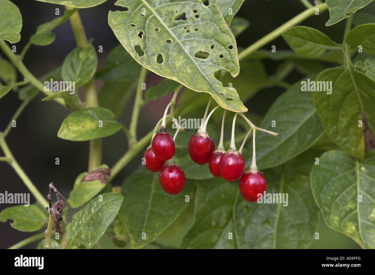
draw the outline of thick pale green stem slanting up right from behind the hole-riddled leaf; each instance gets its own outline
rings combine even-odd
[[[261,47],[263,47],[267,43],[274,40],[276,37],[280,36],[288,28],[293,27],[294,25],[299,24],[300,22],[302,22],[306,18],[310,17],[311,15],[314,15],[315,9],[319,9],[319,12],[323,12],[323,11],[328,9],[328,6],[327,6],[326,3],[319,4],[319,5],[316,5],[316,6],[312,6],[311,8],[306,9],[305,11],[301,12],[299,15],[294,16],[292,19],[285,22],[280,27],[276,28],[275,30],[273,30],[272,32],[270,32],[269,34],[267,34],[263,38],[259,39],[257,42],[250,45],[248,48],[246,48],[242,52],[240,52],[240,54],[238,55],[238,59],[242,60],[243,58],[245,58],[246,56],[248,56],[252,52],[257,51],[258,49],[260,49]]]

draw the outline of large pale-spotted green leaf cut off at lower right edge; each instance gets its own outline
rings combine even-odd
[[[363,248],[375,248],[375,150],[363,162],[332,150],[311,170],[314,199],[326,224]]]

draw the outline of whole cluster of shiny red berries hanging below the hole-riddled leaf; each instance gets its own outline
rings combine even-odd
[[[197,132],[189,140],[188,150],[190,158],[199,165],[208,163],[210,172],[215,177],[222,177],[227,181],[235,181],[241,175],[239,189],[244,199],[255,202],[258,194],[267,189],[267,182],[259,171],[245,171],[245,159],[236,149],[225,152],[223,148],[215,150],[212,138],[205,132]],[[145,166],[153,172],[160,171],[159,180],[165,192],[175,195],[185,186],[185,174],[181,167],[173,161],[164,166],[165,161],[174,156],[175,146],[171,135],[162,127],[147,148],[143,157]]]

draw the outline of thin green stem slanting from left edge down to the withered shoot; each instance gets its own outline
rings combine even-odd
[[[31,194],[36,198],[36,200],[43,206],[47,207],[48,202],[46,199],[40,194],[38,189],[34,186],[34,184],[31,182],[30,178],[27,177],[21,166],[18,164],[18,162],[15,160],[15,158],[12,155],[12,152],[10,152],[9,147],[7,146],[3,133],[0,132],[0,148],[3,150],[5,156],[7,158],[12,159],[12,162],[10,162],[10,166],[16,171],[18,176],[23,180],[24,184],[30,190]]]

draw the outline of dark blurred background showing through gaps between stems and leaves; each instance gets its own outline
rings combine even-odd
[[[12,0],[22,15],[23,26],[21,30],[21,41],[15,44],[17,54],[20,54],[30,36],[35,33],[38,25],[56,18],[55,8],[60,8],[60,16],[63,15],[64,6],[57,4],[42,3],[39,1]],[[108,11],[117,10],[114,6],[115,0],[108,0],[104,4],[96,7],[81,9],[80,15],[84,24],[88,39],[93,39],[94,48],[103,46],[103,53],[98,53],[98,68],[111,49],[118,45],[118,40],[108,25]],[[311,0],[312,3],[312,0]],[[247,18],[250,27],[237,38],[237,46],[247,47],[256,42],[279,25],[302,12],[305,6],[300,0],[246,0],[237,16]],[[366,6],[361,12],[374,13],[375,3]],[[341,43],[343,39],[345,20],[330,27],[324,24],[329,19],[329,12],[325,11],[319,16],[311,16],[301,23],[309,27],[317,28],[326,33],[335,42]],[[48,46],[32,45],[28,50],[24,64],[36,77],[40,77],[49,70],[62,64],[65,56],[76,47],[76,42],[69,21],[55,28],[55,41]],[[284,39],[281,37],[273,40],[263,47],[271,49],[276,45],[276,49],[289,49]],[[5,58],[1,52],[1,56]],[[270,75],[279,64],[277,61],[265,60],[267,73]],[[302,78],[302,75],[293,71],[287,81],[293,83]],[[18,74],[18,81],[22,81]],[[147,86],[155,85],[162,80],[161,77],[151,73],[147,77]],[[101,81],[97,81],[99,91],[102,86]],[[258,114],[265,114],[272,102],[283,92],[281,88],[264,89],[258,92],[251,99],[251,109],[249,103],[244,103],[249,110]],[[84,99],[82,92],[80,97]],[[154,127],[155,123],[162,116],[166,104],[168,104],[171,94],[158,100],[148,103],[143,109],[139,118],[138,136],[141,137]],[[26,107],[21,116],[17,119],[17,128],[12,128],[6,138],[8,146],[13,155],[24,169],[31,181],[37,186],[42,194],[47,195],[48,183],[53,182],[60,192],[68,198],[74,180],[78,174],[87,171],[88,164],[88,142],[73,142],[62,140],[57,137],[58,129],[62,120],[70,113],[53,101],[42,102],[44,97],[39,93],[33,101]],[[17,94],[9,92],[0,101],[0,131],[3,131],[13,113],[17,110],[21,101]],[[178,103],[177,103],[178,105]],[[124,125],[129,125],[130,114],[132,112],[132,101],[129,102],[119,121]],[[203,116],[202,110],[201,116]],[[199,117],[197,115],[197,117]],[[102,162],[112,166],[126,152],[127,141],[122,131],[103,139]],[[142,151],[143,152],[143,151]],[[3,154],[1,154],[3,155]],[[55,165],[55,158],[60,158],[60,165]],[[124,178],[129,175],[139,165],[141,154],[130,162],[113,181],[113,186],[121,185]],[[0,192],[5,190],[12,193],[26,193],[27,188],[22,180],[5,162],[0,162]],[[30,196],[31,203],[35,199]],[[0,211],[9,205],[0,205]],[[320,240],[313,241],[311,248],[359,248],[359,246],[349,237],[329,229],[323,219],[320,221]],[[0,223],[0,248],[7,248],[34,233],[18,232],[9,226],[9,221]],[[35,248],[36,244],[30,244],[26,248]]]

